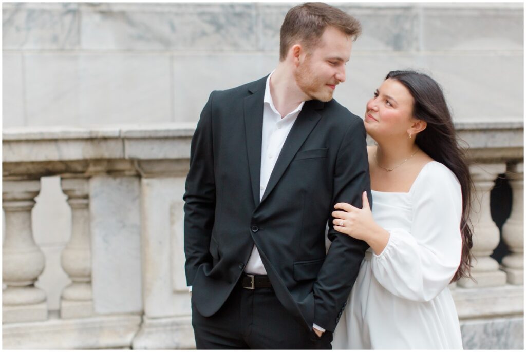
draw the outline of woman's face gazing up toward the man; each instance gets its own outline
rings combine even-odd
[[[367,102],[365,128],[369,136],[377,138],[409,138],[408,129],[413,118],[413,97],[395,79],[386,79]]]

